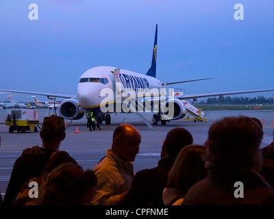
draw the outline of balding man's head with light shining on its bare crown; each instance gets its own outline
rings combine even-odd
[[[125,162],[133,162],[137,153],[141,136],[139,131],[132,125],[122,124],[114,130],[112,140],[112,153]]]

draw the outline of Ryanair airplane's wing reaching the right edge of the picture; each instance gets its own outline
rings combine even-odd
[[[232,92],[216,92],[216,93],[208,93],[208,94],[190,94],[190,95],[182,95],[178,96],[178,99],[197,99],[201,97],[209,97],[209,96],[225,96],[225,95],[234,95],[234,94],[249,94],[256,92],[269,92],[274,89],[264,89],[264,90],[242,90],[242,91],[232,91]]]

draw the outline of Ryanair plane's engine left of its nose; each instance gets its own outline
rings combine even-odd
[[[60,104],[59,114],[65,119],[81,119],[84,116],[84,110],[77,99],[66,99]]]

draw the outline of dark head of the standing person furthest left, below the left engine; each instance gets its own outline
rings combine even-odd
[[[60,142],[66,137],[64,119],[56,115],[45,117],[40,131],[40,137],[43,142],[43,147],[53,148],[54,145],[59,142],[59,148]]]

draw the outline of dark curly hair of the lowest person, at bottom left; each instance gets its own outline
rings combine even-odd
[[[64,163],[47,175],[39,188],[35,205],[86,205],[84,197],[97,185],[92,170],[84,171],[81,166]],[[91,201],[91,200],[90,200]]]

